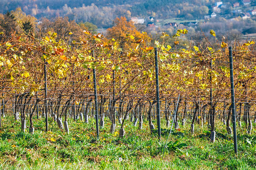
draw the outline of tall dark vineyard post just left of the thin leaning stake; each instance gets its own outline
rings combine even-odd
[[[160,127],[160,103],[159,103],[159,79],[158,79],[158,48],[155,48],[155,81],[156,81],[156,111],[158,122],[158,138],[161,139],[161,127]]]

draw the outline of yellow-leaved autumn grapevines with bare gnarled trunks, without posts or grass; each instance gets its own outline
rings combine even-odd
[[[79,41],[56,39],[54,32],[45,37],[19,35],[1,36],[0,94],[1,113],[24,121],[44,117],[47,113],[64,129],[69,117],[88,122],[94,116],[93,69],[96,69],[98,113],[100,125],[109,117],[110,131],[115,131],[115,120],[125,127],[130,117],[134,125],[148,121],[154,129],[155,119],[155,60],[158,48],[160,116],[167,127],[179,103],[175,122],[181,118],[191,124],[208,123],[214,131],[214,120],[220,119],[229,130],[231,97],[229,51],[225,41],[205,41],[205,44],[179,48],[178,30],[175,46],[150,41],[146,33],[140,37],[125,36],[125,43],[105,39],[102,34],[89,31]],[[214,31],[211,34],[215,36]],[[72,33],[69,33],[72,36]],[[69,37],[70,38],[70,37]],[[245,121],[249,133],[255,118],[256,56],[254,41],[233,43],[234,86],[237,119]],[[45,96],[44,66],[47,74]],[[212,91],[212,100],[210,92]],[[177,101],[177,96],[180,100]],[[243,113],[243,114],[242,114]],[[136,122],[135,122],[136,121]],[[67,126],[67,125],[65,125]],[[66,127],[65,127],[66,128]],[[175,128],[179,125],[176,123]],[[66,128],[67,130],[67,128]],[[193,128],[191,129],[193,132]]]

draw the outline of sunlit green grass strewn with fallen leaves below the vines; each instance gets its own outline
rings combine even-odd
[[[44,120],[35,120],[35,134],[20,131],[20,122],[3,118],[0,131],[0,169],[255,169],[255,128],[248,135],[238,128],[238,155],[234,154],[233,135],[221,122],[216,125],[216,142],[209,141],[206,125],[195,125],[195,134],[187,125],[174,130],[163,155],[169,130],[162,130],[159,142],[145,122],[138,130],[126,122],[125,137],[109,133],[110,123],[100,129],[95,140],[95,121],[89,124],[69,121],[70,134],[57,128],[50,118],[49,130]],[[162,124],[164,126],[164,124]],[[242,126],[245,125],[242,123]],[[254,124],[255,127],[255,124]],[[117,125],[118,131],[120,125]],[[28,129],[27,129],[28,130]]]

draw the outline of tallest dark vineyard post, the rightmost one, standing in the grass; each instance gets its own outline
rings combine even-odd
[[[232,46],[229,46],[229,69],[230,69],[230,89],[231,89],[231,105],[233,115],[233,134],[234,134],[234,152],[237,154],[237,129],[236,129],[236,109],[234,100],[234,78],[233,78],[233,56]]]

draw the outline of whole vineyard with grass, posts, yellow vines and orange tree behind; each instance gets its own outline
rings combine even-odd
[[[114,24],[0,32],[0,168],[255,169],[255,41]]]

